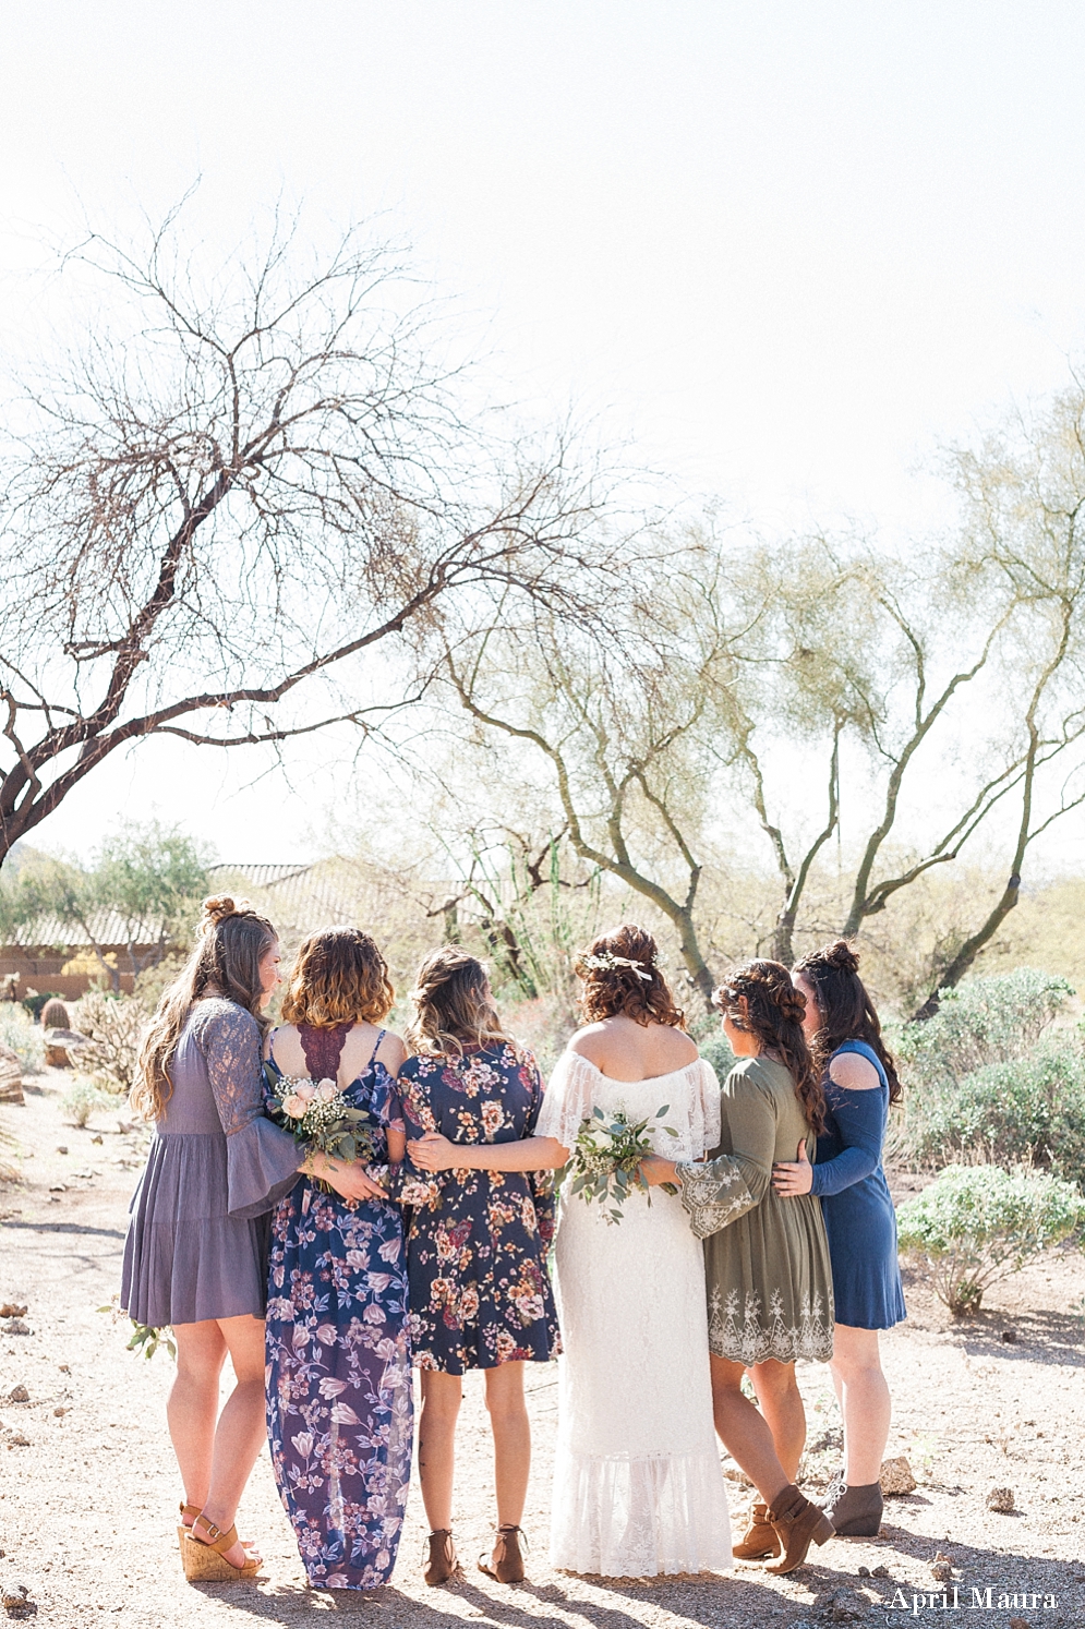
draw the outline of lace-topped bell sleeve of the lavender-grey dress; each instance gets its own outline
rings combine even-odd
[[[249,1220],[274,1210],[298,1179],[303,1150],[264,1114],[261,1031],[243,1007],[215,1007],[195,1043],[226,1135],[226,1209]]]

